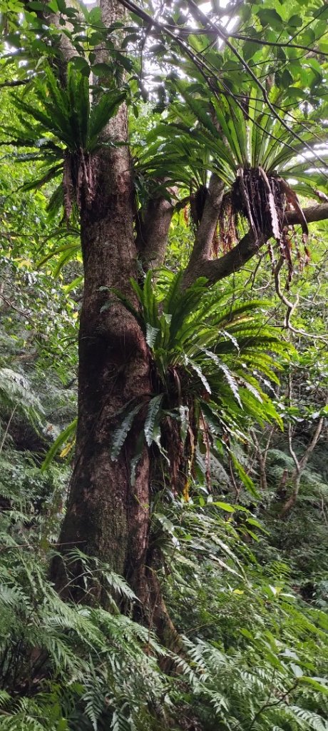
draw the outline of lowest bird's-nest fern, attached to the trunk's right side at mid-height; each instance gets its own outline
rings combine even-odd
[[[247,439],[250,417],[281,425],[260,381],[278,382],[274,354],[285,355],[288,348],[265,324],[263,302],[229,303],[218,287],[209,291],[205,279],[183,291],[181,278],[165,272],[155,292],[150,273],[143,289],[132,281],[141,314],[121,298],[140,322],[153,357],[157,393],[145,412],[145,441],[164,452],[176,488],[192,471],[198,441],[208,447],[229,436]],[[113,458],[140,409],[134,403],[123,414]]]

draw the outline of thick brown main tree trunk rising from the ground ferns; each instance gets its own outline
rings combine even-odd
[[[114,132],[117,138],[126,137],[124,105],[115,118]],[[94,159],[94,173],[96,197],[89,210],[84,205],[81,216],[85,292],[80,317],[77,448],[60,542],[63,552],[64,544],[67,550],[76,544],[88,555],[107,561],[143,599],[149,528],[146,447],[133,487],[130,480],[142,410],[118,461],[110,457],[112,434],[123,419],[122,410],[142,400],[146,405],[151,392],[145,339],[134,317],[110,292],[119,289],[133,300],[130,278],[136,276],[137,250],[128,149],[102,151]],[[85,598],[85,585],[83,577],[78,578],[78,562],[73,574],[75,580],[68,583],[62,561],[53,564],[53,578],[61,594],[80,600]]]

